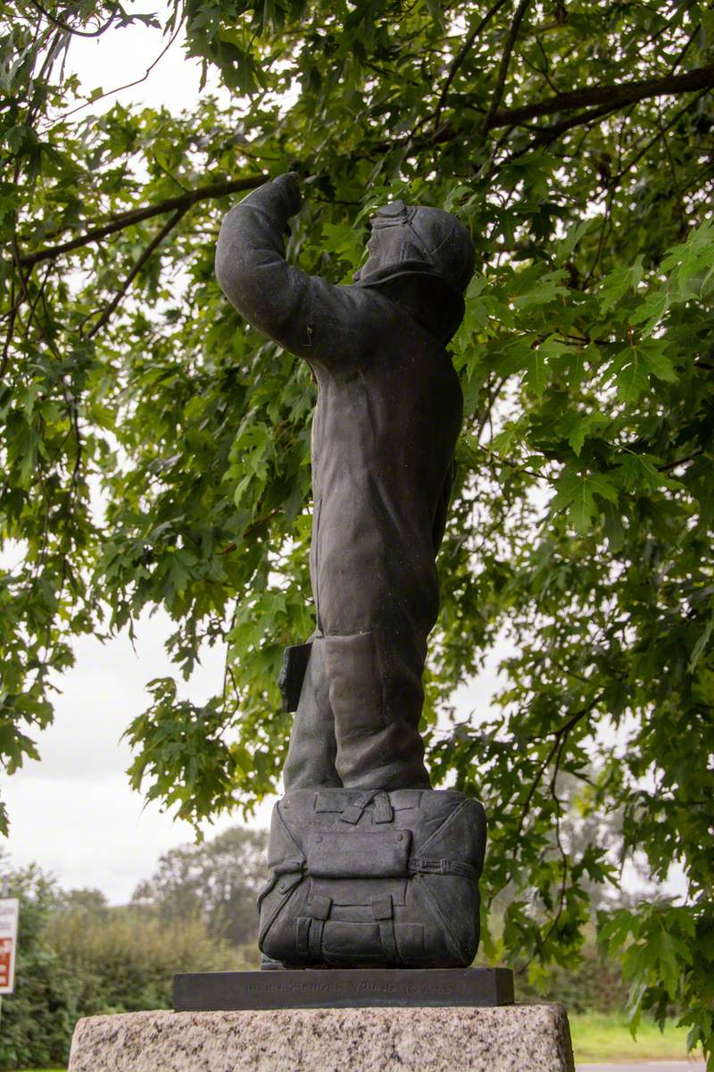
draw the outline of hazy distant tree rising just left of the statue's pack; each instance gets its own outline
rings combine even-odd
[[[212,936],[245,946],[257,937],[265,848],[264,833],[232,827],[200,845],[171,849],[152,878],[137,885],[132,904],[166,920],[200,918]]]

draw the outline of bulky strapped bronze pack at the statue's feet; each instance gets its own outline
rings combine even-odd
[[[451,790],[295,789],[273,809],[258,944],[287,967],[466,967],[482,805]]]

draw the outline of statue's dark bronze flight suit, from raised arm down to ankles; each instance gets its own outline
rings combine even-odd
[[[317,630],[285,785],[429,788],[422,673],[462,415],[445,351],[453,326],[439,327],[438,308],[406,312],[389,287],[335,286],[287,264],[284,235],[299,207],[291,177],[267,182],[228,213],[216,250],[232,304],[317,381]],[[422,283],[424,304],[438,307],[438,288]]]

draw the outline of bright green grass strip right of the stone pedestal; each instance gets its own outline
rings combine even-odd
[[[643,1019],[633,1039],[624,1014],[572,1013],[571,1033],[576,1061],[679,1059],[687,1055],[687,1028],[667,1025],[664,1032]]]

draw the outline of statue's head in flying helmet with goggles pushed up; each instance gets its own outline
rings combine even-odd
[[[454,322],[456,330],[475,264],[473,242],[464,224],[442,209],[401,200],[379,208],[370,223],[369,256],[354,282],[378,287],[406,276],[439,281],[436,289],[442,315]]]

